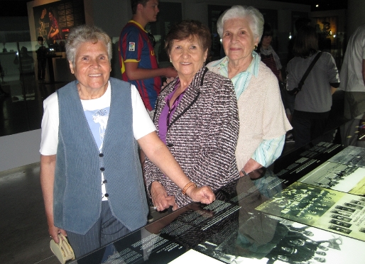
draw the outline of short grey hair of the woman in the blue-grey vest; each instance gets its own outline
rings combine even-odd
[[[72,28],[66,41],[67,60],[70,60],[75,67],[75,55],[80,45],[85,42],[97,43],[98,41],[101,41],[105,45],[105,48],[107,48],[109,62],[111,62],[113,53],[111,51],[111,39],[109,35],[101,28],[90,25],[81,25]]]

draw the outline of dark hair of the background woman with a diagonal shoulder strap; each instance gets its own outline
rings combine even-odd
[[[318,50],[318,35],[312,26],[303,26],[295,38],[293,54],[296,57],[309,57]]]

